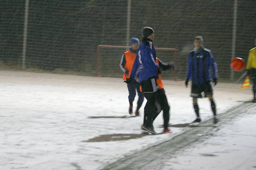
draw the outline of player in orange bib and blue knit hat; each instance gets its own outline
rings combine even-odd
[[[139,48],[139,44],[140,44],[139,39],[132,38],[131,42],[130,42],[131,48],[128,51],[124,52],[122,55],[119,67],[124,72],[124,76],[123,76],[124,80],[128,80],[130,78],[130,74],[132,71],[132,65],[136,58],[136,51]],[[124,82],[127,83],[127,81],[124,81]],[[127,83],[127,88],[128,88],[128,92],[129,92],[128,100],[129,100],[129,104],[130,104],[129,114],[132,115],[133,101],[136,96],[136,89],[137,89],[139,99],[137,102],[137,109],[135,111],[135,116],[140,116],[139,109],[144,100],[144,96],[143,96],[142,92],[140,91],[140,84],[137,83],[136,81],[132,81],[132,82]]]

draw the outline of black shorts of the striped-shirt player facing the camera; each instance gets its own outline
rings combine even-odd
[[[191,86],[191,97],[193,98],[202,98],[202,92],[204,92],[204,97],[206,95],[212,94],[213,93],[213,88],[212,88],[212,82],[207,81],[204,84],[193,84]]]

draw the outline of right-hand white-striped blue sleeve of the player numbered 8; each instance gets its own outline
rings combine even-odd
[[[152,42],[149,42],[149,46],[145,48],[145,56],[148,58],[147,62],[149,67],[158,69],[158,64],[156,63],[156,52]]]

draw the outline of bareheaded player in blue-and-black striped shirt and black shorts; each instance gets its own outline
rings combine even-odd
[[[203,37],[197,36],[194,39],[195,49],[189,53],[188,57],[188,72],[187,79],[185,81],[186,87],[188,87],[188,81],[191,80],[191,97],[193,97],[193,106],[196,112],[196,119],[193,121],[201,122],[199,115],[199,107],[197,104],[197,98],[202,98],[202,92],[204,96],[208,97],[211,102],[213,112],[213,123],[217,123],[216,118],[216,106],[213,100],[213,86],[210,67],[213,72],[213,83],[216,85],[218,82],[218,68],[217,63],[214,61],[211,50],[203,46]]]

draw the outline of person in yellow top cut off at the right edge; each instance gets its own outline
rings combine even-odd
[[[256,39],[254,42],[254,45],[256,46]],[[250,79],[252,80],[252,93],[253,93],[253,103],[256,103],[256,47],[252,48],[249,51],[249,56],[247,59],[247,64],[246,64],[246,70],[247,74],[250,76]]]

